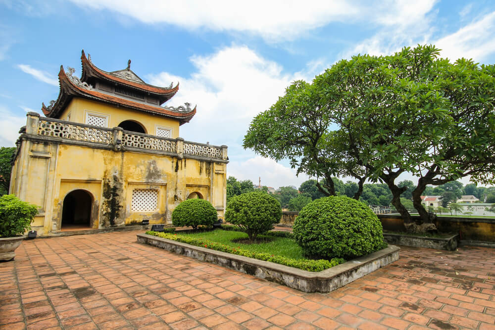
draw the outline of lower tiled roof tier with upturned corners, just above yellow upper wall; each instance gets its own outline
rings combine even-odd
[[[65,109],[68,105],[68,101],[72,99],[73,96],[80,96],[88,99],[93,99],[96,101],[108,103],[111,105],[116,105],[119,107],[128,108],[131,110],[138,110],[143,112],[148,112],[153,115],[159,115],[167,118],[172,118],[179,120],[180,124],[187,123],[196,114],[196,106],[193,110],[189,112],[174,112],[167,110],[162,107],[156,107],[148,104],[143,104],[135,102],[132,100],[124,99],[118,96],[103,94],[94,90],[87,90],[75,85],[65,74],[63,67],[60,66],[60,72],[58,73],[58,81],[60,82],[60,93],[58,95],[57,101],[48,109],[45,104],[42,106],[43,113],[50,118],[55,118],[60,114],[60,112]]]

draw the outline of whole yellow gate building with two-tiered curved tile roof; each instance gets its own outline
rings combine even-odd
[[[46,117],[27,114],[16,142],[10,193],[40,207],[33,229],[171,223],[187,198],[223,217],[227,146],[184,141],[179,128],[196,107],[161,106],[179,84],[146,84],[130,69],[106,72],[81,55],[82,76],[60,67],[60,93]]]

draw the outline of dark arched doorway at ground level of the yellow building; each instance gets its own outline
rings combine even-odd
[[[91,227],[91,194],[82,189],[69,192],[63,199],[61,229]]]

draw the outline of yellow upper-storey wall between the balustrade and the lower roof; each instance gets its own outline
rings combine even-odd
[[[145,128],[146,134],[156,135],[156,126],[161,126],[172,129],[173,139],[179,137],[179,121],[177,120],[163,118],[141,111],[117,108],[79,97],[74,97],[57,119],[67,120],[67,115],[70,113],[71,122],[86,124],[87,111],[109,116],[108,128],[117,127],[125,120],[133,120],[139,122]]]

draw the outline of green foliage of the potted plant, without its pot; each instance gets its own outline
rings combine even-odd
[[[14,194],[0,197],[0,237],[23,235],[31,229],[38,206],[20,200]]]

